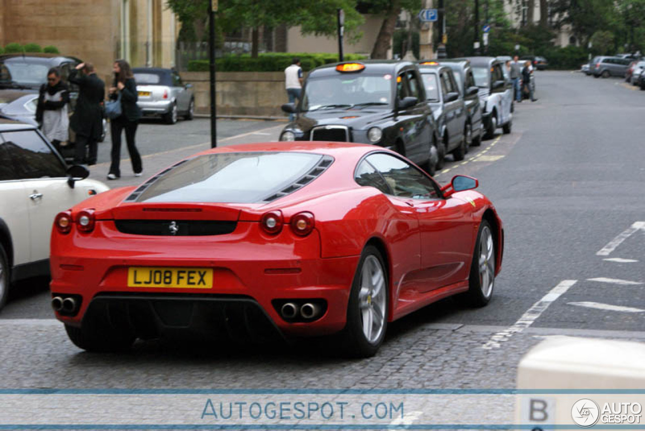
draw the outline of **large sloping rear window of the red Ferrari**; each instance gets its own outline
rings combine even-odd
[[[290,152],[201,155],[161,175],[137,202],[261,203],[304,177],[323,157]]]

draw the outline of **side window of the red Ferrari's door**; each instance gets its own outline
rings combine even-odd
[[[389,154],[377,153],[366,158],[381,173],[394,196],[412,199],[439,198],[437,186],[412,165]]]

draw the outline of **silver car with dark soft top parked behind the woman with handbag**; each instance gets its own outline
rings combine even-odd
[[[179,115],[192,120],[195,114],[193,84],[184,84],[173,69],[133,68],[143,115],[161,116],[168,124],[175,124]]]

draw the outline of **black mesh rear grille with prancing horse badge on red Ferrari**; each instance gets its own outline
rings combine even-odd
[[[233,233],[237,222],[213,220],[115,220],[121,233],[157,236],[206,236]]]

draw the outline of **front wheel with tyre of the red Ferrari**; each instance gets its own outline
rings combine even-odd
[[[486,220],[482,220],[477,233],[473,260],[470,264],[468,292],[462,296],[473,307],[484,307],[493,296],[495,286],[495,241],[493,231]]]

